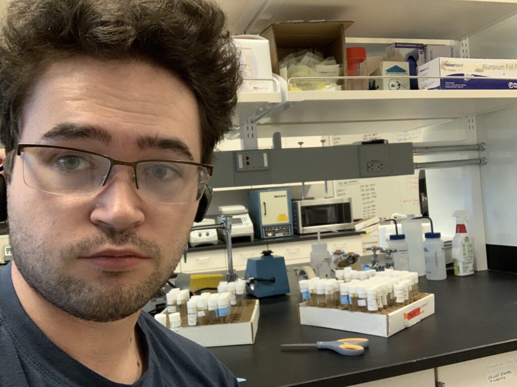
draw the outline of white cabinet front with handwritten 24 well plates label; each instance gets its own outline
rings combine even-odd
[[[436,381],[445,387],[514,387],[517,351],[436,368]]]

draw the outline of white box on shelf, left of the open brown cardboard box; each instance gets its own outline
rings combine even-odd
[[[267,39],[256,35],[237,35],[233,37],[233,40],[240,49],[242,68],[244,68],[243,76],[248,78],[244,80],[240,91],[275,91]],[[261,78],[261,80],[249,78]]]

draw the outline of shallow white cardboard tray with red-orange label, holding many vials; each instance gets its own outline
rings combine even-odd
[[[308,307],[298,304],[301,325],[339,329],[375,336],[389,337],[417,324],[434,313],[434,294],[423,293],[422,298],[409,305],[390,312],[379,313],[348,312],[339,309]]]

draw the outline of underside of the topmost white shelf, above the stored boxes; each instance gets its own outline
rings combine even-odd
[[[233,13],[240,7],[240,14],[254,5],[219,2]],[[458,40],[515,12],[515,0],[283,0],[259,9],[246,32],[259,34],[269,24],[285,20],[350,20],[354,24],[346,30],[347,37]],[[237,18],[230,27],[235,33],[242,24]]]

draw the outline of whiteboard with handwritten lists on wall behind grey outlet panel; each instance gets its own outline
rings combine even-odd
[[[343,134],[330,136],[330,145],[345,145],[355,141],[386,139],[394,142],[421,142],[422,130],[400,133]],[[422,156],[415,156],[415,162]],[[393,213],[420,214],[418,199],[418,173],[334,181],[334,196],[352,198],[352,214],[355,219],[378,216],[387,218]]]

